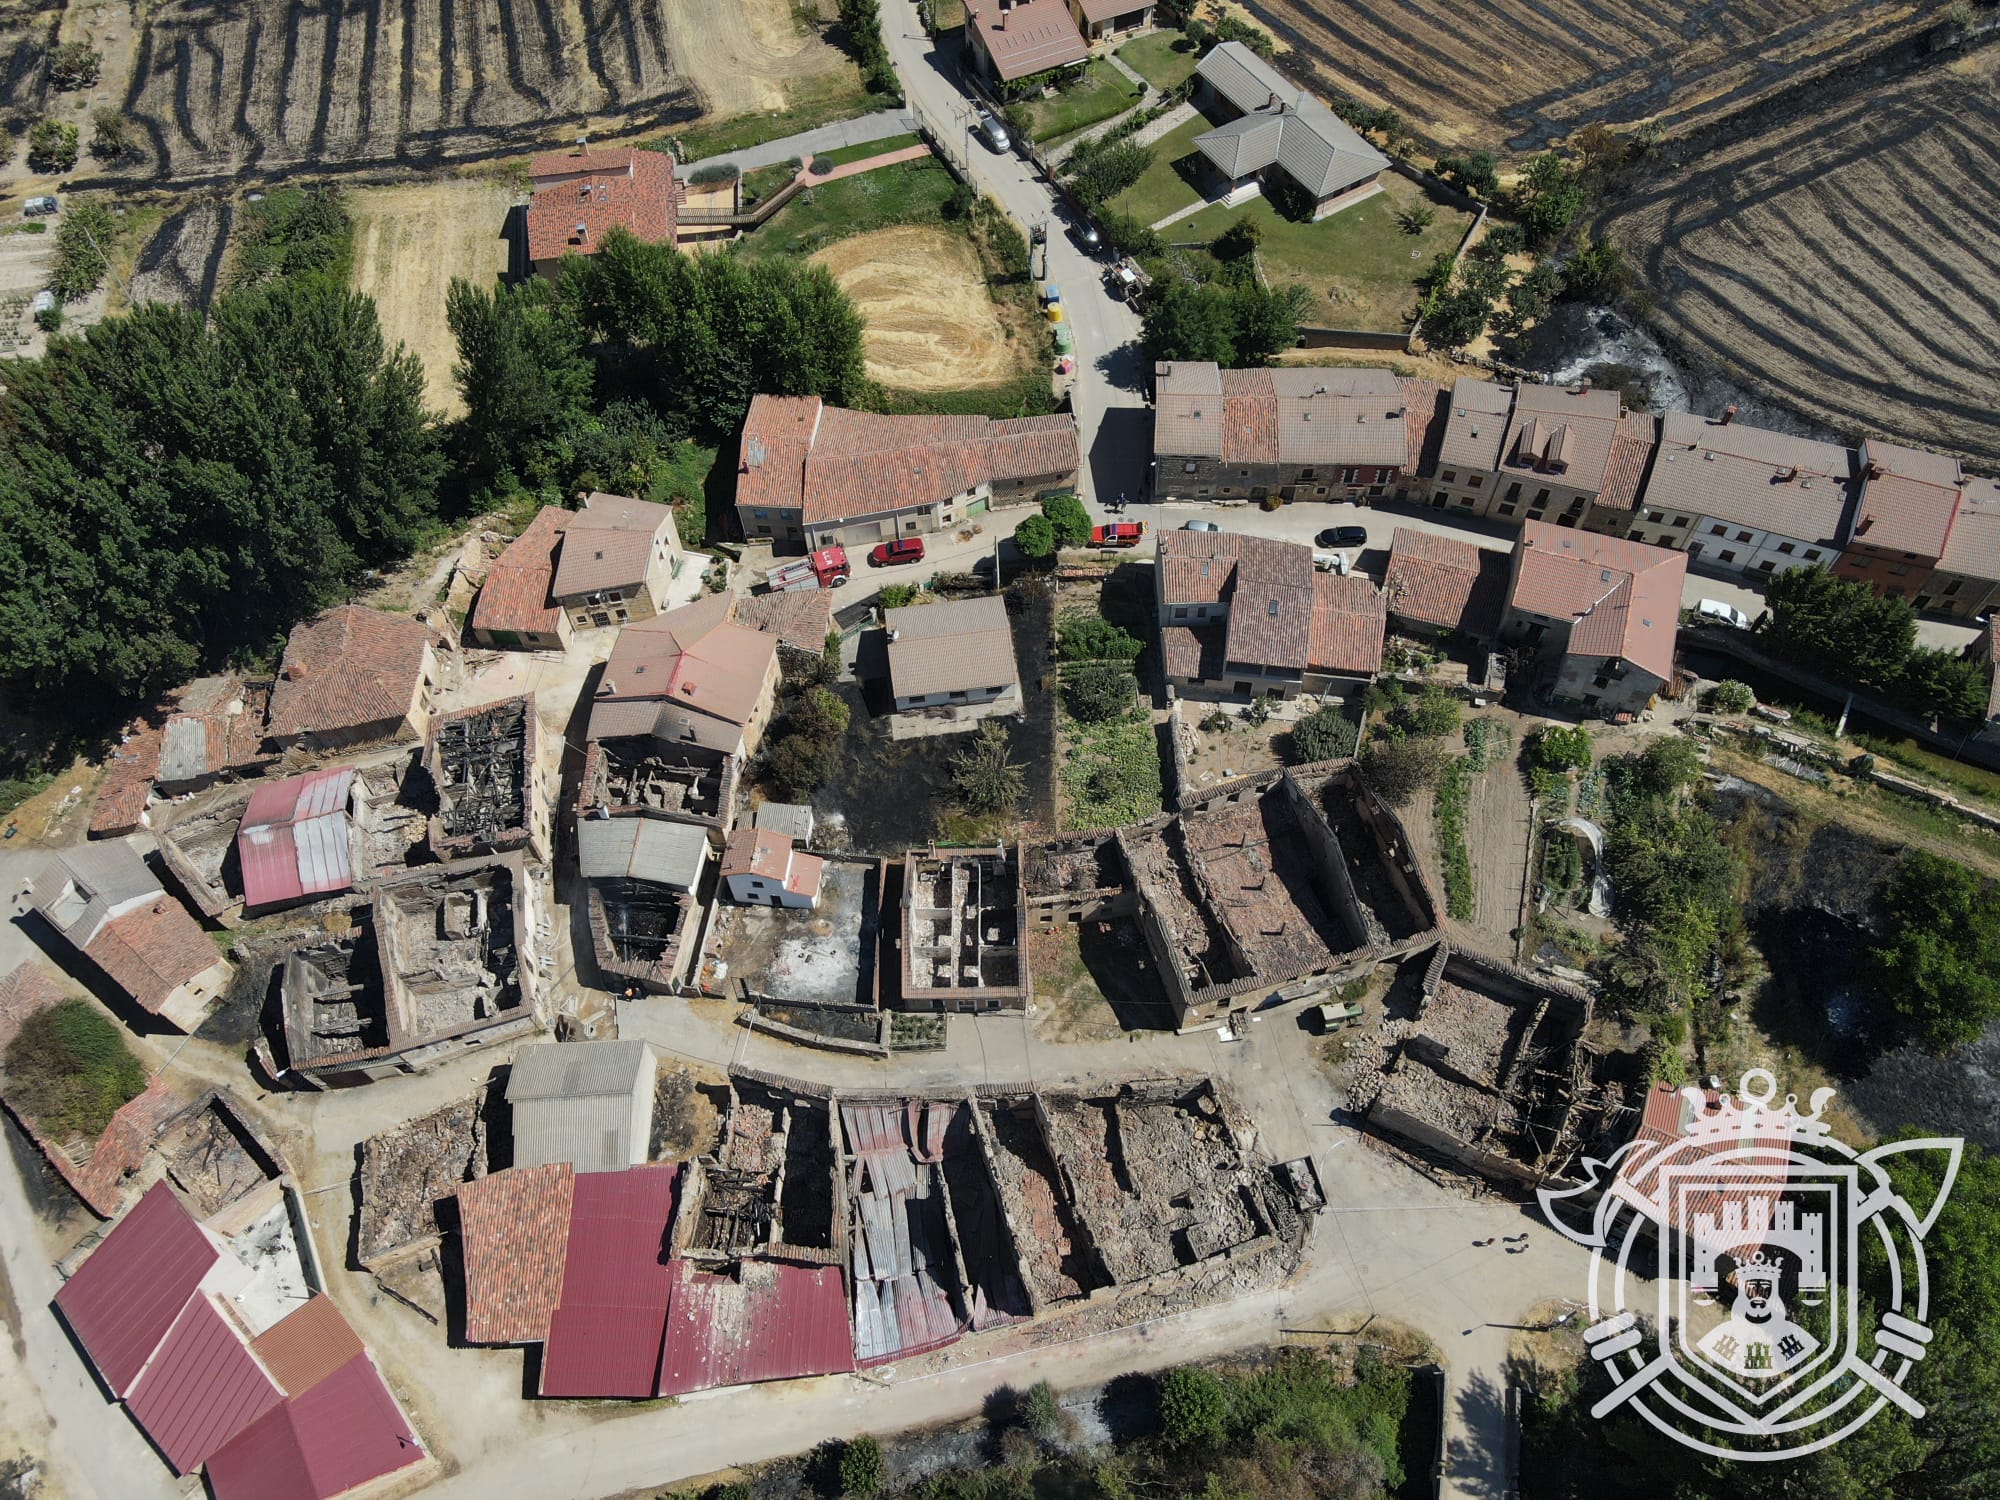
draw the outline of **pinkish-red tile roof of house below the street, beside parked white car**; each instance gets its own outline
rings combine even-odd
[[[1686,576],[1682,552],[1530,520],[1510,604],[1570,620],[1572,656],[1618,656],[1668,682]]]

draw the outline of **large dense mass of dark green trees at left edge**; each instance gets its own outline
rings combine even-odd
[[[76,714],[268,650],[434,524],[424,374],[322,274],[58,338],[0,396],[0,676]]]

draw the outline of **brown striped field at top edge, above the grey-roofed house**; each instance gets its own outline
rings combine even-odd
[[[1300,84],[1424,136],[1538,150],[1594,120],[1680,130],[1928,24],[1916,0],[1250,0]]]

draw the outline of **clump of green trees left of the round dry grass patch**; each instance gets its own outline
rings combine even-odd
[[[560,498],[586,472],[652,472],[722,438],[750,398],[866,390],[862,320],[824,266],[688,256],[612,230],[560,280],[454,280],[446,316],[476,484]]]

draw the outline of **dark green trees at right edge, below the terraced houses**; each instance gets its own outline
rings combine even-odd
[[[1976,722],[1986,714],[1978,662],[1916,644],[1916,608],[1826,568],[1794,568],[1764,588],[1764,644],[1788,662],[1878,688],[1916,714]]]

